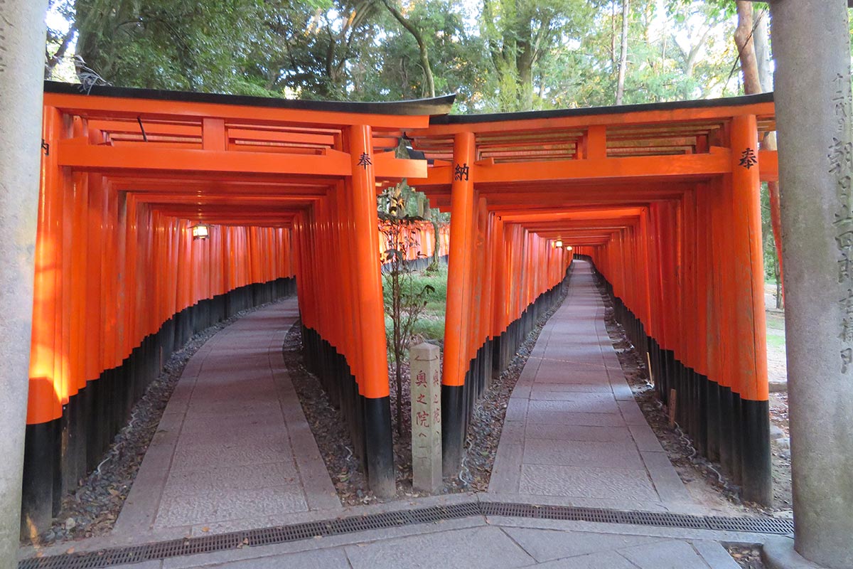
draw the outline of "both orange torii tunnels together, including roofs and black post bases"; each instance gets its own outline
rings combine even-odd
[[[769,502],[769,96],[452,116],[452,96],[45,91],[26,526],[44,526],[96,467],[194,331],[295,290],[306,363],[371,486],[392,494],[376,195],[403,178],[451,213],[445,473],[458,472],[479,394],[583,255],[699,452]],[[401,137],[408,160],[395,157]],[[195,241],[200,223],[211,236]]]

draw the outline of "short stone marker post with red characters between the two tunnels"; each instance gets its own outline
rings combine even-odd
[[[412,485],[431,494],[441,488],[441,364],[438,346],[409,350],[412,397]]]

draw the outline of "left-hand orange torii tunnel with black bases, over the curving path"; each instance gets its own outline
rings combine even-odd
[[[453,97],[287,102],[46,84],[24,530],[100,462],[195,330],[299,288],[308,363],[394,491],[377,189]],[[205,241],[190,228],[212,224]],[[294,282],[295,280],[295,282]]]

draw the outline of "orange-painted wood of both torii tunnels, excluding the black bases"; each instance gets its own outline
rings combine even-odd
[[[28,421],[55,419],[183,308],[281,276],[358,391],[385,397],[375,195],[403,177],[452,213],[445,385],[577,253],[662,348],[764,400],[756,196],[778,158],[757,137],[773,129],[768,102],[430,125],[49,93]],[[403,134],[427,160],[393,157]],[[202,222],[212,236],[193,241]],[[430,224],[418,242],[432,254]]]

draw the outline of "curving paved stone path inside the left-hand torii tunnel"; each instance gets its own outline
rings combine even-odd
[[[286,299],[243,316],[189,360],[114,536],[229,531],[341,508],[284,369]]]

